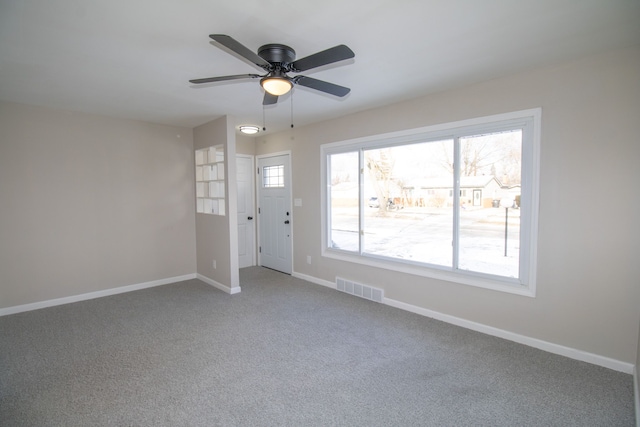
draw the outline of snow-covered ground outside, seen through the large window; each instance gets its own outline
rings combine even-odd
[[[520,210],[509,209],[505,256],[505,209],[467,208],[460,212],[461,270],[518,277]],[[365,208],[364,252],[451,267],[451,208]],[[358,251],[357,208],[332,210],[333,246]]]

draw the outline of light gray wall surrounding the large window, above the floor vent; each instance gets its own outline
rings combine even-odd
[[[292,152],[294,271],[384,288],[443,314],[635,364],[640,317],[640,49],[606,54],[257,139]],[[323,258],[320,145],[542,107],[537,296]],[[311,265],[306,256],[311,255]]]

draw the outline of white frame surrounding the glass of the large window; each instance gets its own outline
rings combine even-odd
[[[540,181],[540,132],[542,109],[534,108],[492,116],[478,117],[452,123],[443,123],[418,129],[373,135],[347,141],[323,144],[320,147],[321,159],[321,244],[322,256],[341,261],[384,268],[392,271],[430,277],[449,282],[477,286],[518,295],[535,297],[537,271],[537,237],[538,207]],[[521,195],[521,237],[520,237],[520,277],[492,276],[470,271],[453,270],[446,267],[426,266],[424,264],[407,263],[371,254],[354,253],[331,248],[329,233],[331,226],[329,164],[332,154],[353,152],[361,149],[403,145],[412,142],[434,141],[441,138],[456,137],[464,133],[473,134],[474,129],[480,131],[487,126],[523,126],[522,140],[522,195]],[[364,215],[363,183],[360,183],[360,218]],[[362,224],[362,223],[361,223]]]

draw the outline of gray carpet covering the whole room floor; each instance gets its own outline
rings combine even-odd
[[[2,426],[633,426],[631,375],[271,270],[0,318]]]

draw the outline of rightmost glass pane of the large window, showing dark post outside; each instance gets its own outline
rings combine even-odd
[[[460,269],[518,277],[521,153],[521,130],[460,138]]]

